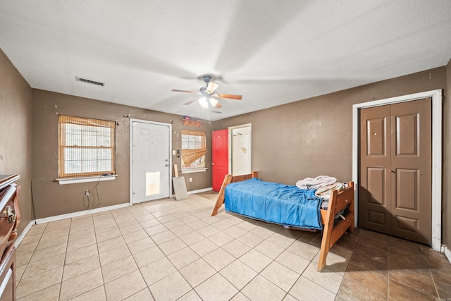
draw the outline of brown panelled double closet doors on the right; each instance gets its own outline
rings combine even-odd
[[[360,227],[431,245],[431,144],[431,99],[360,111]]]

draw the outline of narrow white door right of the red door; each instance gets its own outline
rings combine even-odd
[[[233,176],[252,173],[252,126],[229,128],[229,171]]]

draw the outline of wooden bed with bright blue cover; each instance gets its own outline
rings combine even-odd
[[[323,238],[318,262],[318,271],[322,271],[326,266],[326,257],[330,247],[347,230],[354,231],[354,183],[348,183],[345,190],[330,192],[328,209],[326,210],[321,209],[321,202],[318,203],[317,199],[311,197],[310,192],[306,193],[302,201],[298,201],[296,200],[298,192],[295,190],[299,190],[299,188],[296,186],[278,184],[281,186],[275,185],[276,191],[270,191],[270,188],[266,187],[268,182],[257,181],[257,179],[257,171],[242,176],[226,175],[211,216],[218,214],[218,209],[226,202],[226,211],[235,212],[252,219],[307,230],[320,230],[322,228]],[[242,181],[244,182],[238,183]],[[230,183],[237,184],[230,185]],[[249,189],[246,188],[248,183]],[[254,186],[255,184],[257,186]],[[229,188],[227,188],[228,185],[230,185]],[[237,188],[245,193],[235,192]],[[285,188],[288,190],[285,191]],[[288,198],[280,200],[281,194],[285,192],[287,192]],[[304,192],[299,193],[303,194]],[[271,197],[271,202],[268,202],[268,197]],[[293,202],[300,203],[302,208],[297,207],[298,205],[293,204]],[[265,207],[265,212],[260,212],[257,209],[258,207]],[[342,210],[344,209],[345,212],[343,213]],[[335,216],[340,214],[342,218],[335,219]]]

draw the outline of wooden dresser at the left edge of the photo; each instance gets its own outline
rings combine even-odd
[[[0,301],[16,300],[17,226],[20,221],[18,175],[0,175]]]

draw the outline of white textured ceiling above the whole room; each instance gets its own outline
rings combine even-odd
[[[218,120],[444,66],[451,1],[0,1],[0,48],[33,88]],[[242,101],[171,92],[206,73]]]

